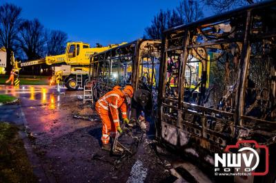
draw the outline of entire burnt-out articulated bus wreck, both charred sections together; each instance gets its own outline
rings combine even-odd
[[[265,176],[228,180],[272,182],[275,60],[276,2],[268,1],[171,28],[162,41],[139,39],[94,54],[90,81],[95,100],[115,85],[132,85],[130,118],[143,111],[155,125],[159,147],[183,155],[211,177],[215,153],[237,153],[229,145],[268,147],[269,152],[257,150],[260,166],[254,170]]]

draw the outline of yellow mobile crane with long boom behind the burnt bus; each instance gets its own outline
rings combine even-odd
[[[52,75],[51,83],[63,84],[70,90],[83,87],[88,82],[90,56],[95,53],[103,52],[112,47],[117,47],[121,44],[112,44],[103,47],[97,44],[97,47],[90,47],[88,43],[83,42],[69,42],[66,46],[65,54],[56,56],[46,56],[37,61],[28,61],[21,63],[21,67],[29,65],[38,65],[46,63],[47,65],[66,63],[66,65],[56,66],[55,72]]]

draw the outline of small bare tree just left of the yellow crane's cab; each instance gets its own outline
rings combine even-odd
[[[46,31],[46,54],[63,54],[66,49],[68,35],[60,30]]]

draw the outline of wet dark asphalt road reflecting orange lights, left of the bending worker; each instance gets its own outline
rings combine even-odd
[[[50,86],[0,86],[0,94],[20,98],[21,103],[0,106],[0,121],[24,126],[29,134],[32,152],[45,177],[41,182],[164,182],[170,177],[170,164],[161,160],[146,139],[137,153],[110,171],[117,157],[100,148],[101,122],[92,104],[83,105],[77,95]],[[82,120],[75,115],[95,119]],[[95,158],[100,157],[100,158]],[[38,164],[39,163],[39,164]],[[167,165],[167,166],[166,166]],[[139,171],[137,171],[139,170]],[[165,181],[166,182],[166,181]]]

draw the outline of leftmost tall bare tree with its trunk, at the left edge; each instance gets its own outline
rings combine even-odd
[[[18,26],[20,24],[21,8],[11,3],[0,6],[0,46],[7,50],[7,71],[10,72],[10,54],[17,40]]]

